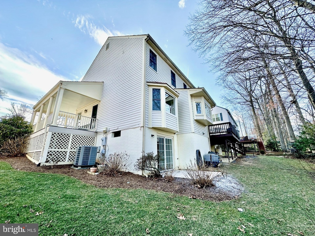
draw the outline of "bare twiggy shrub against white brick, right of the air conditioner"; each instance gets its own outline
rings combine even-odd
[[[97,170],[103,172],[106,175],[117,175],[125,170],[128,170],[131,161],[129,155],[126,152],[115,152],[108,156],[101,156],[99,158],[99,165]]]

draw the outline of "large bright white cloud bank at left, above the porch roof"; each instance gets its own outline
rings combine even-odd
[[[0,101],[0,115],[8,113],[11,102],[35,104],[58,81],[68,80],[42,65],[33,55],[0,43],[0,88],[8,98]]]

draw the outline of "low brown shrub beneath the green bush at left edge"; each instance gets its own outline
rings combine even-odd
[[[2,156],[24,156],[26,152],[26,141],[24,137],[14,137],[7,139],[0,146],[0,154]]]

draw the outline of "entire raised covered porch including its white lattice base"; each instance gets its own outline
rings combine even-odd
[[[103,82],[59,81],[33,107],[26,156],[39,166],[72,164],[78,145],[94,146],[102,89]]]

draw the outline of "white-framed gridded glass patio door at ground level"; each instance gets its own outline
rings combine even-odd
[[[173,169],[173,140],[157,137],[157,167],[160,171]]]

